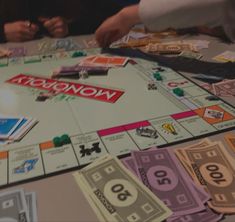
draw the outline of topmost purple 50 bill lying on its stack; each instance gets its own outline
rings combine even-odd
[[[203,210],[204,204],[192,186],[192,181],[168,149],[134,151],[138,176],[173,211],[173,216]],[[169,195],[174,193],[174,195]]]

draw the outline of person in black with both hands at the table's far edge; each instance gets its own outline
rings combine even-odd
[[[121,8],[110,0],[0,0],[0,42],[91,34]]]

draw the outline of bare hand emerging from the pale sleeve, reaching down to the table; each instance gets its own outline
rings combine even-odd
[[[126,7],[98,27],[96,41],[101,47],[107,47],[126,35],[139,21],[138,5]]]

